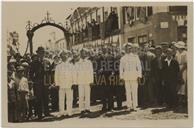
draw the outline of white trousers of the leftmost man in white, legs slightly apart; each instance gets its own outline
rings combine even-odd
[[[65,113],[65,96],[66,96],[66,111],[68,115],[72,115],[73,107],[73,91],[71,88],[59,88],[59,112]]]

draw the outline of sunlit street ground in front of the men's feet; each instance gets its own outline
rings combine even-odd
[[[125,103],[124,103],[125,104]],[[174,112],[165,107],[148,107],[139,108],[137,111],[129,111],[127,109],[113,110],[111,112],[101,112],[101,105],[91,107],[91,113],[81,117],[78,108],[74,108],[72,117],[57,118],[57,112],[52,113],[52,117],[44,118],[43,122],[47,121],[63,121],[66,119],[116,119],[116,120],[166,120],[166,119],[187,119],[186,112]]]

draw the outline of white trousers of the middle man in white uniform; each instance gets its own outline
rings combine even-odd
[[[90,86],[79,85],[79,109],[90,110]]]

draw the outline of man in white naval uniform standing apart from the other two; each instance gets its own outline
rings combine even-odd
[[[120,79],[125,82],[127,107],[136,110],[138,106],[138,80],[142,77],[142,67],[138,55],[134,54],[133,44],[125,45],[126,54],[120,60]]]

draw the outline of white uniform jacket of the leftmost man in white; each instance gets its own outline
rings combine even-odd
[[[72,87],[72,65],[68,61],[61,62],[56,66],[55,84],[60,88]]]

